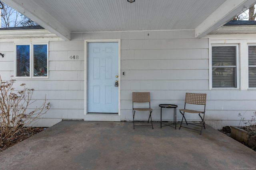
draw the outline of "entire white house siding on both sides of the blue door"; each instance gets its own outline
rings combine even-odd
[[[148,35],[149,34],[149,35]],[[206,122],[214,127],[238,124],[255,110],[256,90],[209,90],[208,39],[192,38],[193,31],[137,31],[73,33],[73,41],[49,42],[49,78],[17,80],[34,88],[40,104],[46,98],[52,108],[37,125],[53,125],[62,119],[84,119],[84,39],[121,39],[121,120],[132,120],[132,92],[150,92],[152,119],[160,120],[159,104],[176,104],[177,120],[186,92],[206,93]],[[14,70],[14,42],[0,42],[0,75],[8,80]],[[69,57],[78,55],[79,59]],[[33,106],[34,107],[34,106]],[[163,119],[172,120],[172,110]],[[171,113],[171,115],[170,115]],[[138,116],[148,119],[148,116]],[[188,117],[198,121],[198,117]]]

